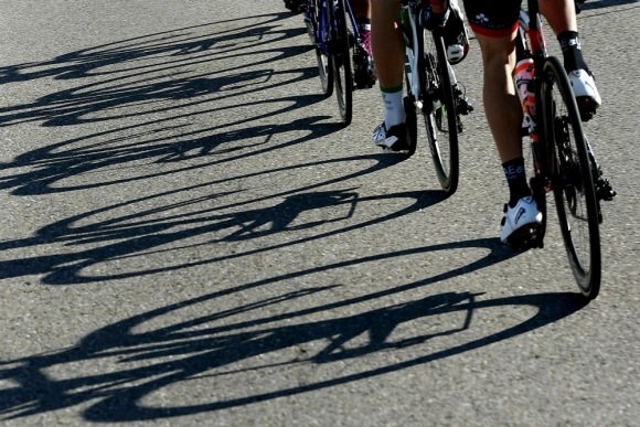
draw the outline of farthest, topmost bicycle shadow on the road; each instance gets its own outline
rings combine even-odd
[[[233,53],[234,51],[245,50],[247,46],[268,47],[270,42],[290,39],[306,33],[303,28],[281,28],[278,22],[287,18],[289,17],[286,13],[249,14],[241,19],[172,29],[154,34],[97,45],[70,52],[49,61],[0,66],[0,84],[32,82],[46,77],[54,77],[56,79],[77,79],[95,76],[108,77],[120,73],[117,68],[109,68],[110,66],[127,63],[131,63],[132,67],[126,68],[126,71],[143,73],[145,71],[153,70],[158,64],[138,65],[137,63],[141,60],[158,55],[169,57],[164,62],[161,62],[160,65],[169,66],[167,70],[171,70],[172,66],[182,65],[181,60],[186,60],[190,54],[207,52],[212,47],[216,47],[217,54]],[[276,38],[266,40],[266,36],[269,34],[275,34]],[[291,50],[281,51],[282,54],[296,54],[300,50],[308,49],[303,46],[290,47]],[[214,55],[212,54],[193,58],[193,61],[195,63],[206,63],[213,57]],[[60,96],[51,95],[51,99],[56,98],[60,98]],[[11,109],[1,110],[7,111]]]

